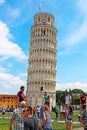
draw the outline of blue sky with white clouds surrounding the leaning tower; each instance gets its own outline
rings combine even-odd
[[[38,12],[55,17],[56,90],[87,91],[87,0],[0,0],[0,93],[26,87],[30,29]]]

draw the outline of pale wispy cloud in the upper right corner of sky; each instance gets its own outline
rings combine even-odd
[[[76,21],[76,23],[78,23],[78,27],[74,28],[74,32],[69,33],[71,35],[69,35],[65,40],[65,43],[67,43],[67,45],[78,44],[84,38],[87,38],[87,0],[79,0],[78,9],[80,12],[82,12],[83,21],[82,24],[79,24],[79,22]]]

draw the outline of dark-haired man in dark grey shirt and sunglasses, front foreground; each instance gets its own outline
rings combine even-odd
[[[32,107],[26,106],[23,110],[24,120],[24,130],[38,130],[38,121],[36,118],[32,117]]]

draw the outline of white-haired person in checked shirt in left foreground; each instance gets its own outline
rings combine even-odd
[[[24,130],[24,120],[23,120],[22,112],[25,106],[26,106],[26,102],[22,101],[19,104],[19,108],[14,109],[12,117],[10,119],[9,130],[12,130],[13,121],[14,121],[14,130]]]

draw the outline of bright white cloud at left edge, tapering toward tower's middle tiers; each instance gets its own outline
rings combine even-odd
[[[9,28],[5,23],[0,21],[0,56],[14,57],[19,60],[27,59],[22,49],[17,43],[13,43],[10,39],[12,35],[10,34]]]

